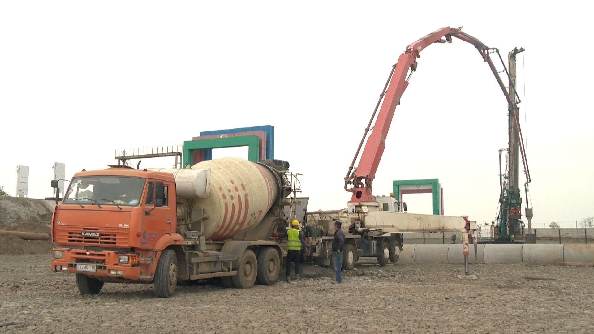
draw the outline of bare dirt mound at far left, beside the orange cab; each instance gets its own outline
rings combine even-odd
[[[52,206],[46,200],[0,197],[0,230],[50,234],[51,221]],[[50,241],[0,236],[0,254],[45,254],[52,247]]]

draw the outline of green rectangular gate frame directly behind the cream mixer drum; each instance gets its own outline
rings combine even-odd
[[[225,138],[211,138],[203,140],[184,141],[183,168],[186,164],[194,165],[194,151],[204,149],[220,149],[222,147],[248,146],[248,160],[253,162],[260,161],[260,137],[258,136],[239,136]]]

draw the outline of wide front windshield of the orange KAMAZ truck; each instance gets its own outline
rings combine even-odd
[[[143,178],[80,177],[72,179],[64,204],[137,206],[144,188]]]

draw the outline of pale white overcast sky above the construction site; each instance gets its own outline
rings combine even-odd
[[[43,198],[52,194],[54,162],[71,178],[115,163],[116,149],[269,124],[275,157],[304,174],[309,209],[346,207],[343,178],[391,65],[425,34],[463,26],[506,62],[514,47],[526,49],[517,68],[533,225],[575,226],[594,216],[584,4],[3,1],[0,185],[14,195],[16,166],[26,165],[29,197]],[[446,215],[490,222],[507,102],[461,40],[429,46],[418,64],[374,193],[389,194],[395,179],[438,178]],[[247,157],[247,149],[215,156],[237,153]],[[157,164],[170,167],[173,158],[141,166]],[[409,212],[431,213],[430,195],[405,201]]]

